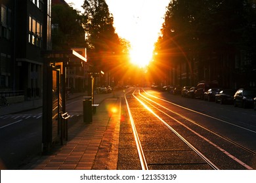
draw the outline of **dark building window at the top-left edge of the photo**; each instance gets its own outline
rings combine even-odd
[[[11,39],[11,9],[1,5],[1,37]]]

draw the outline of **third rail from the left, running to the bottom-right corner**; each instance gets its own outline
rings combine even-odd
[[[143,95],[142,95],[143,96]],[[143,96],[144,98],[146,98],[145,96]],[[146,98],[148,99],[148,98]],[[144,101],[146,101],[146,99],[144,99]],[[148,99],[149,101],[152,101],[151,99]],[[190,127],[182,124],[182,122],[180,122],[179,120],[173,118],[172,116],[170,116],[169,114],[167,114],[166,112],[163,112],[163,110],[160,110],[159,108],[155,107],[154,105],[150,104],[148,101],[146,101],[149,105],[151,105],[152,107],[156,108],[157,110],[159,110],[160,112],[162,112],[163,114],[165,114],[166,116],[168,116],[169,118],[175,120],[175,122],[178,122],[179,124],[183,125],[184,127],[186,127],[186,129],[188,129],[189,131],[192,131],[194,134],[198,135],[198,137],[202,138],[204,141],[208,142],[209,144],[215,146],[215,148],[219,149],[221,152],[223,152],[224,154],[226,154],[226,156],[232,158],[234,161],[238,162],[240,165],[244,166],[246,169],[253,169],[252,167],[250,167],[249,165],[247,165],[246,163],[244,163],[243,161],[241,161],[240,159],[236,158],[235,156],[233,156],[232,154],[230,154],[229,152],[227,152],[226,150],[224,150],[223,148],[219,147],[217,144],[215,144],[214,142],[211,142],[209,141],[209,139],[203,137],[202,135],[200,135],[199,133],[197,133],[196,131],[190,129]],[[156,103],[155,101],[152,101],[153,103],[159,105],[160,107],[163,107],[162,105]],[[166,110],[169,110],[168,108],[166,107],[163,107],[165,108]],[[150,109],[151,110],[151,109]],[[172,110],[169,110],[170,112],[173,112]],[[174,114],[177,114],[178,116],[181,116],[182,115],[179,115],[177,112],[173,112]],[[156,114],[157,115],[157,114]],[[183,117],[182,117],[183,118]],[[159,117],[159,119],[161,119]],[[185,117],[185,119],[187,120],[188,118]],[[163,121],[164,122],[164,121]],[[165,123],[165,122],[164,122]],[[224,139],[225,140],[225,139]]]

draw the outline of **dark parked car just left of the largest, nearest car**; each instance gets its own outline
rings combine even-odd
[[[234,101],[234,93],[236,93],[236,90],[221,90],[221,92],[215,95],[215,103],[232,104]]]

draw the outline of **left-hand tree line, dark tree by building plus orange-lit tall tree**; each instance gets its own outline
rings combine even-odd
[[[67,5],[53,5],[53,49],[87,48],[93,71],[121,79],[128,64],[129,42],[117,35],[114,18],[104,0],[85,0],[82,7],[83,14]]]

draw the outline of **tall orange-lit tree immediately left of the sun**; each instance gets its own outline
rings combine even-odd
[[[114,18],[108,10],[104,0],[85,0],[84,16],[87,17],[87,44],[89,61],[95,70],[111,73],[115,78],[120,78],[123,71],[122,65],[127,61],[127,46],[120,39],[114,28]],[[124,44],[125,43],[125,44]]]

